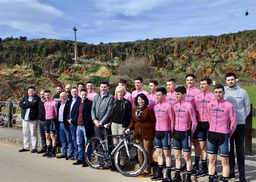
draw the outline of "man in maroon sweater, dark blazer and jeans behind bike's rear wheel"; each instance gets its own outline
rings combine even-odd
[[[85,144],[91,139],[94,134],[94,124],[92,122],[91,110],[92,101],[87,98],[87,90],[80,90],[81,102],[78,107],[78,126],[76,128],[76,142],[78,145],[78,160],[73,165],[83,164],[82,167],[88,166],[85,161]],[[91,151],[88,149],[88,151]],[[88,158],[91,153],[88,152]]]

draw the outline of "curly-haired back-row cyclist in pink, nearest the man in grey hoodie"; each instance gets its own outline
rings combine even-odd
[[[206,141],[209,131],[209,120],[207,114],[207,104],[215,100],[214,94],[209,91],[210,86],[211,79],[209,76],[202,76],[200,80],[200,88],[203,93],[200,93],[195,97],[196,109],[198,112],[197,138],[201,147],[201,161],[203,166],[196,174],[193,174],[192,172],[192,175],[196,175],[197,177],[208,175]],[[217,172],[215,175],[217,178]]]

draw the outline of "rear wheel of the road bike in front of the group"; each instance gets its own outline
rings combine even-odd
[[[101,138],[93,137],[87,142],[85,146],[85,160],[91,168],[98,169],[105,165],[104,157],[101,157],[105,154],[106,148]]]

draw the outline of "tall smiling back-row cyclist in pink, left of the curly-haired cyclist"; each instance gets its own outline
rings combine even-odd
[[[186,83],[187,83],[188,89],[187,89],[185,100],[193,106],[194,110],[196,111],[196,117],[197,117],[198,113],[196,110],[195,97],[202,92],[201,90],[195,87],[196,76],[193,73],[189,73],[186,75]],[[197,131],[193,135],[192,144],[194,145],[194,150],[195,150],[195,164],[192,169],[192,174],[195,175],[199,171],[198,164],[200,161],[200,154],[201,154],[200,144],[197,140]],[[181,167],[181,172],[184,172],[184,171],[186,171],[186,163]]]

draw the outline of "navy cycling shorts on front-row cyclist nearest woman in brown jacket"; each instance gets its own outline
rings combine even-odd
[[[171,131],[155,131],[155,148],[171,149]]]

